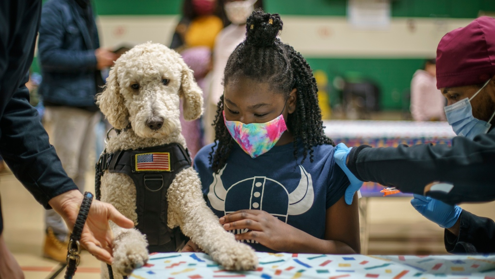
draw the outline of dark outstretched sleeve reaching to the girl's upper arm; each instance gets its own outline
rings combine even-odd
[[[495,134],[465,137],[446,144],[351,149],[347,167],[361,181],[423,194],[433,182],[452,184],[448,192],[429,191],[433,198],[453,204],[495,199]]]

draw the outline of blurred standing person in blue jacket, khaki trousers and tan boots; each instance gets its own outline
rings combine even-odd
[[[42,9],[38,50],[45,128],[62,167],[84,192],[99,120],[95,95],[104,85],[100,70],[113,65],[117,57],[99,47],[90,0],[47,1]],[[48,210],[45,224],[44,256],[65,262],[65,223],[55,211]]]

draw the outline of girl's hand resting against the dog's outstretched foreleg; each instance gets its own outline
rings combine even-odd
[[[290,237],[294,227],[280,221],[262,210],[239,210],[220,218],[220,224],[227,231],[248,229],[250,232],[236,234],[236,240],[249,239],[276,250],[290,250]]]

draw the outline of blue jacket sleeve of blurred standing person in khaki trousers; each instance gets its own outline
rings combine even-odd
[[[95,50],[63,49],[66,34],[80,32],[73,22],[66,22],[70,7],[48,2],[41,13],[38,56],[43,69],[51,72],[77,73],[95,70],[97,59]]]

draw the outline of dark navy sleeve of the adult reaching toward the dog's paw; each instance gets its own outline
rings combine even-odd
[[[40,116],[29,104],[25,82],[27,76],[0,119],[0,155],[15,177],[49,209],[48,201],[52,197],[77,186],[67,177],[55,148],[49,144]]]

